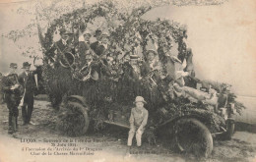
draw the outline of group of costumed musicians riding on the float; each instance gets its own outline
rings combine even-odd
[[[74,47],[73,33],[65,28],[61,28],[59,33],[60,40],[45,51],[45,54],[49,58],[54,58],[55,67],[60,65],[71,67],[75,79],[97,81],[107,78],[119,81],[121,78],[127,78],[128,81],[133,82],[146,81],[150,86],[167,87],[161,88],[167,94],[163,95],[164,98],[173,98],[173,92],[176,95],[182,95],[186,91],[191,91],[190,88],[183,88],[185,85],[196,88],[198,80],[195,78],[193,53],[186,45],[179,45],[185,47],[180,49],[178,55],[170,52],[171,42],[146,48],[142,53],[136,52],[138,47],[122,51],[110,42],[107,32],[96,29],[95,42],[91,43],[93,35],[86,30],[83,33],[84,41],[79,41],[79,44]],[[72,53],[74,58],[67,53]],[[192,97],[195,98],[195,96]]]

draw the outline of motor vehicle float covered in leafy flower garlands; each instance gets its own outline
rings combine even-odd
[[[140,95],[148,102],[149,122],[146,139],[156,142],[164,136],[181,152],[209,156],[213,150],[213,136],[229,139],[234,132],[235,112],[244,106],[235,101],[226,83],[213,83],[196,79],[192,63],[192,49],[187,47],[186,27],[177,22],[141,18],[153,8],[151,5],[122,12],[111,1],[84,6],[52,21],[42,33],[38,27],[43,49],[42,77],[46,93],[54,108],[60,111],[58,128],[66,135],[86,135],[89,128],[100,131],[105,125],[129,129],[129,116],[133,101]],[[90,26],[98,24],[109,33],[109,50],[114,59],[112,71],[116,76],[104,76],[104,59],[96,58],[97,75],[90,68],[82,73],[80,35]],[[94,27],[94,26],[93,26]],[[96,27],[92,29],[96,30]],[[61,28],[71,30],[73,52],[57,52],[60,60],[47,55],[54,46],[53,36]],[[172,43],[178,44],[178,55],[168,54]],[[126,53],[138,55],[138,64],[146,58],[149,44],[154,44],[162,64],[158,81],[153,71],[142,79],[127,78],[123,65]],[[138,49],[141,52],[138,53]],[[186,75],[178,75],[180,64],[186,60]],[[122,67],[122,68],[121,68]],[[118,72],[118,69],[124,69]],[[183,70],[182,70],[183,71]],[[83,80],[83,76],[88,80]],[[129,76],[129,75],[128,75]],[[185,84],[180,81],[184,79]],[[158,141],[157,141],[158,142]]]

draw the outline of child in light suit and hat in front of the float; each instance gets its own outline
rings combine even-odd
[[[135,99],[135,108],[132,108],[130,117],[130,131],[128,136],[127,145],[132,145],[133,136],[136,133],[137,146],[142,144],[142,135],[145,130],[145,126],[148,122],[148,110],[144,108],[144,104],[147,103],[142,96],[137,96]]]

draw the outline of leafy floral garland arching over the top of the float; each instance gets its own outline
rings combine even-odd
[[[151,9],[151,6],[140,7],[134,9],[133,12],[128,15],[127,13],[118,13],[118,10],[111,1],[89,5],[86,8],[75,10],[72,13],[65,14],[59,19],[54,20],[51,26],[47,28],[42,46],[46,49],[50,48],[53,43],[53,34],[56,32],[57,27],[64,27],[65,24],[72,23],[73,30],[83,31],[87,24],[92,24],[97,17],[103,17],[106,20],[109,20],[109,17],[116,17],[116,20],[121,22],[117,27],[108,23],[107,28],[111,35],[111,42],[117,44],[122,50],[124,50],[125,44],[130,45],[132,48],[135,46],[133,42],[137,38],[135,34],[137,31],[139,31],[143,38],[149,33],[155,33],[158,36],[171,34],[177,42],[178,37],[180,37],[180,30],[182,30],[182,27],[178,23],[160,19],[155,22],[150,22],[140,18]],[[159,28],[161,28],[161,32]],[[76,33],[78,34],[78,32]],[[129,36],[125,35],[127,33]],[[147,45],[146,40],[141,42],[141,45],[145,47]]]

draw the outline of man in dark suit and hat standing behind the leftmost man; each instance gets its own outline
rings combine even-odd
[[[19,82],[24,89],[22,99],[22,116],[24,125],[32,124],[32,109],[33,109],[33,95],[36,87],[34,74],[30,71],[31,64],[28,62],[23,63],[24,72],[19,76]]]

